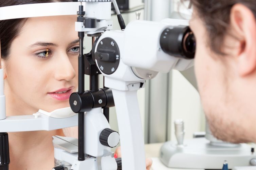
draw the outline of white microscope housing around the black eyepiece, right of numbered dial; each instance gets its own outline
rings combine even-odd
[[[194,65],[191,59],[172,57],[160,46],[160,36],[168,27],[185,25],[187,20],[165,19],[161,22],[133,21],[125,29],[125,65],[145,70],[168,73],[171,69],[186,70]]]

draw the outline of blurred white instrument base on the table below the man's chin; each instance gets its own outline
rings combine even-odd
[[[211,145],[205,138],[187,140],[183,147],[177,146],[176,142],[166,142],[160,150],[160,160],[169,168],[221,169],[227,161],[228,168],[233,169],[250,166],[250,160],[255,157],[248,144],[219,147]]]

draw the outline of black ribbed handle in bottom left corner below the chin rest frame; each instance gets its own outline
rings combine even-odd
[[[8,133],[0,133],[0,170],[8,170],[10,164]]]

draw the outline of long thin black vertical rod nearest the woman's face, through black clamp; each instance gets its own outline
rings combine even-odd
[[[84,37],[85,32],[78,32],[80,40],[80,54],[78,57],[78,93],[85,92],[85,59],[84,59]],[[78,161],[85,160],[85,113],[78,113]]]

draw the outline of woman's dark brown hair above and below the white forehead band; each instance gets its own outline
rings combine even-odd
[[[34,3],[72,2],[72,0],[0,0],[0,7]],[[6,60],[13,40],[26,22],[26,18],[0,21],[1,57]]]

